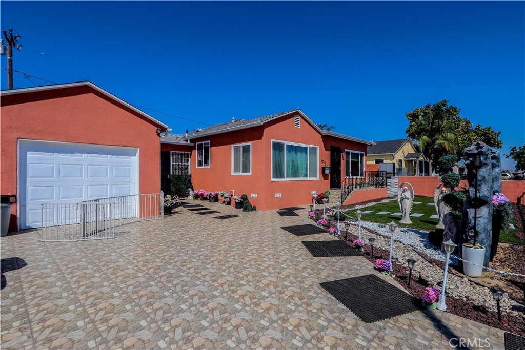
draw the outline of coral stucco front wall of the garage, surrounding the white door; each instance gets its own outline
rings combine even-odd
[[[43,140],[139,148],[141,193],[160,190],[158,126],[87,87],[27,92],[1,99],[1,194],[17,193],[17,140]],[[10,230],[17,229],[17,208]]]

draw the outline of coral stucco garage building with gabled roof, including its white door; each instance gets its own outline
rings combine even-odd
[[[40,227],[42,203],[159,193],[168,126],[84,81],[1,93],[0,192],[10,231]]]

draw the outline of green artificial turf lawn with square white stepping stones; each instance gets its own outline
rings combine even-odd
[[[379,222],[380,224],[388,224],[388,222],[394,221],[397,225],[400,225],[402,227],[419,228],[419,229],[429,230],[429,231],[435,230],[438,219],[430,219],[430,216],[434,214],[437,215],[436,207],[433,205],[426,205],[427,203],[434,203],[434,198],[416,196],[414,198],[414,201],[421,201],[423,203],[413,204],[411,214],[420,213],[420,214],[423,214],[423,216],[420,216],[420,217],[411,216],[410,217],[410,219],[412,220],[411,225],[400,224],[399,221],[401,220],[401,216],[391,215],[394,213],[401,213],[397,199],[388,201],[387,203],[378,203],[370,207],[361,208],[360,209],[361,211],[373,210],[373,213],[363,214],[363,216],[361,217],[361,220]],[[353,218],[355,218],[356,211],[357,209],[347,210],[345,211],[345,214],[350,215]],[[386,214],[386,215],[377,214],[380,211],[390,211],[391,213]],[[515,224],[516,220],[512,220],[511,222],[512,224]],[[507,232],[501,230],[499,241],[503,243],[521,243],[520,239],[514,236],[514,232],[516,231],[518,231],[518,229],[509,228]]]

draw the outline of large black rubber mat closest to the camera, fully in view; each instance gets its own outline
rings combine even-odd
[[[320,284],[367,323],[419,310],[416,298],[373,274]]]

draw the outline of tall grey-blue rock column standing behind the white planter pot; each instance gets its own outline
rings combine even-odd
[[[493,166],[489,146],[483,142],[475,142],[465,149],[465,159],[469,187],[461,216],[462,244],[472,244],[475,240],[476,245],[485,247],[483,266],[488,267],[492,241],[493,193]],[[501,173],[497,176],[501,178]]]

